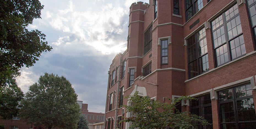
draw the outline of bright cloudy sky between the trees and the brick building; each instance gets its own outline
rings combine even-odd
[[[109,66],[126,50],[129,7],[139,0],[41,0],[39,29],[52,51],[17,79],[23,92],[45,72],[66,77],[90,112],[105,112]],[[149,0],[144,0],[148,3]]]

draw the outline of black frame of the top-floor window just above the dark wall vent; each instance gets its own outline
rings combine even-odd
[[[187,2],[190,1],[190,0],[185,0],[185,15],[186,15],[186,21],[188,21],[189,19],[191,19],[197,12],[199,12],[199,10],[201,10],[203,8],[203,0],[192,0],[192,3],[190,3],[191,5],[189,5]],[[202,4],[202,7],[201,9],[196,9],[196,5],[198,7],[198,1],[201,1],[200,4]],[[188,18],[188,15],[187,15],[187,12],[188,10],[192,8],[192,15],[190,18]]]

